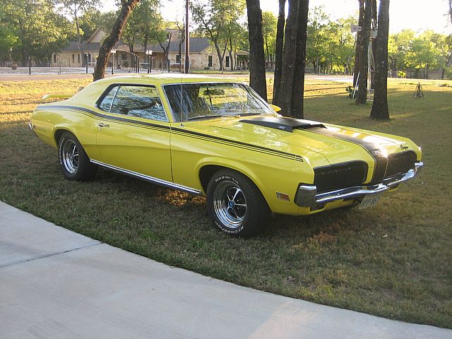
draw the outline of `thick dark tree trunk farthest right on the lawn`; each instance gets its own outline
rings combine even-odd
[[[375,92],[370,117],[388,120],[388,36],[389,0],[380,0],[378,32],[375,42]]]

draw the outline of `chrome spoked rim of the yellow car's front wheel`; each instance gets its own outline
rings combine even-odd
[[[246,216],[246,198],[239,185],[220,182],[213,193],[213,208],[223,225],[232,229],[240,227]]]

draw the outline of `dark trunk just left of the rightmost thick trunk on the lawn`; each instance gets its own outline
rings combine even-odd
[[[362,44],[359,47],[359,78],[357,105],[365,105],[367,102],[367,71],[369,66],[368,49],[370,39],[370,23],[372,14],[372,0],[364,0],[364,18],[362,20]]]

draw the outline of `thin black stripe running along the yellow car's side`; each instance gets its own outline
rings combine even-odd
[[[76,111],[82,112],[83,114],[86,114],[88,116],[93,116],[93,117],[96,117],[99,119],[107,119],[110,121],[118,121],[121,124],[127,124],[129,126],[138,126],[138,127],[145,127],[145,128],[150,128],[150,129],[158,129],[158,130],[167,131],[167,132],[172,131],[172,133],[177,133],[181,136],[196,138],[198,140],[206,140],[206,141],[215,142],[215,143],[221,143],[223,145],[230,145],[233,147],[238,147],[238,148],[242,148],[242,149],[246,149],[246,150],[254,150],[255,152],[264,153],[267,155],[274,155],[277,157],[284,157],[289,160],[303,162],[303,157],[292,154],[292,153],[283,152],[282,150],[273,150],[271,148],[266,148],[266,147],[259,146],[259,145],[243,143],[242,141],[230,140],[227,138],[221,138],[219,136],[210,136],[208,134],[199,133],[196,131],[188,131],[188,130],[180,129],[177,127],[171,128],[170,126],[162,126],[160,124],[153,124],[153,123],[145,122],[145,121],[137,121],[137,120],[127,119],[127,118],[123,118],[123,117],[113,117],[110,115],[100,114],[98,112],[93,111],[92,109],[88,109],[85,107],[69,106],[69,105],[54,105],[54,106],[38,106],[36,109],[37,110],[46,110],[46,109],[76,110]]]

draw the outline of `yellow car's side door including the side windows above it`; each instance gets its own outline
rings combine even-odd
[[[112,85],[97,108],[103,114],[97,148],[104,165],[172,182],[170,126],[155,86]]]

